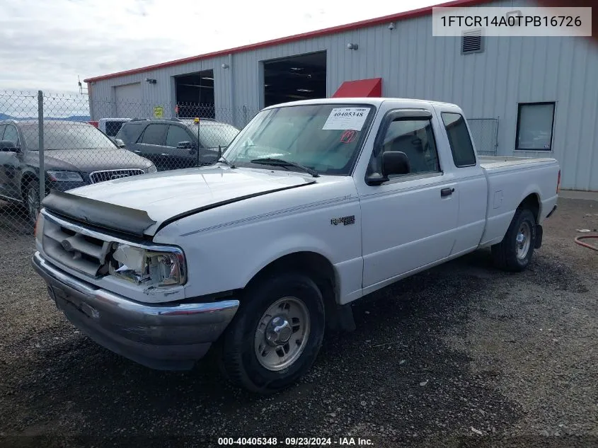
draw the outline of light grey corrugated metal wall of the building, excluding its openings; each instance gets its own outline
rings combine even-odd
[[[359,50],[347,50],[348,42]],[[430,16],[413,18],[394,30],[379,25],[98,81],[91,115],[97,120],[113,114],[106,103],[114,101],[114,86],[137,81],[144,103],[171,113],[173,76],[214,69],[216,108],[235,110],[239,124],[243,107],[251,117],[263,105],[261,62],[326,50],[328,96],[343,81],[381,77],[384,96],[447,101],[468,117],[498,117],[499,155],[554,156],[563,168],[563,188],[598,190],[598,48],[582,38],[485,38],[484,52],[463,55],[460,44],[459,38],[433,37]],[[230,67],[223,69],[223,63]],[[147,77],[157,83],[147,84]],[[541,101],[556,101],[553,151],[515,154],[517,103]]]

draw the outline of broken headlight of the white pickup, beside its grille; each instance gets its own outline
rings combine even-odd
[[[154,287],[183,285],[187,280],[185,255],[178,248],[150,251],[128,244],[115,246],[109,265],[111,275]]]

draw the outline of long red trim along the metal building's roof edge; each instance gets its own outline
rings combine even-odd
[[[437,4],[435,6],[426,6],[425,8],[413,9],[411,11],[404,11],[402,13],[391,14],[390,16],[370,18],[365,21],[347,23],[346,25],[338,25],[338,26],[333,26],[331,28],[323,28],[322,30],[309,31],[308,33],[301,33],[301,34],[296,34],[296,35],[292,35],[292,36],[287,36],[286,38],[266,40],[265,42],[258,42],[256,44],[243,45],[241,47],[230,48],[229,50],[219,50],[217,52],[200,54],[198,56],[185,57],[183,59],[176,59],[174,61],[162,62],[161,64],[154,64],[154,65],[148,65],[146,67],[139,67],[138,69],[118,71],[117,73],[112,73],[112,74],[107,74],[107,75],[103,75],[103,76],[96,76],[94,78],[84,79],[84,82],[89,83],[92,81],[102,81],[103,79],[116,78],[117,76],[126,76],[126,75],[131,75],[131,74],[144,73],[145,71],[163,69],[165,67],[172,67],[173,65],[180,65],[180,64],[186,64],[188,62],[200,61],[201,59],[209,59],[212,57],[226,56],[227,54],[234,54],[234,53],[245,52],[245,51],[249,51],[249,50],[258,50],[258,48],[270,47],[272,45],[281,45],[281,44],[285,44],[288,42],[294,42],[295,40],[313,39],[313,38],[321,37],[323,35],[343,33],[344,31],[357,30],[359,28],[367,28],[369,26],[381,25],[383,23],[401,21],[401,20],[405,20],[407,18],[426,16],[427,14],[432,13],[432,8],[437,8],[439,6],[443,6],[443,7],[476,6],[479,4],[488,3],[490,1],[492,1],[492,0],[447,1],[446,3]]]

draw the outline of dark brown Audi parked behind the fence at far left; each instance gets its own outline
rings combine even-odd
[[[0,121],[0,197],[25,205],[31,222],[40,210],[38,149],[37,121]],[[47,192],[156,171],[85,122],[45,121],[44,151]]]

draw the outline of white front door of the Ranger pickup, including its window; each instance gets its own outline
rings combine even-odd
[[[429,111],[387,113],[376,136],[369,172],[380,172],[384,151],[402,151],[410,173],[381,185],[357,184],[362,208],[363,287],[447,258],[456,241],[459,189],[442,172]],[[447,192],[449,192],[447,194]],[[391,280],[392,279],[392,280]]]

